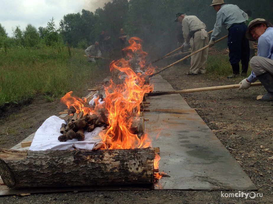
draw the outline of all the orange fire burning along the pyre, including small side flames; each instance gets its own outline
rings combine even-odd
[[[72,91],[61,98],[61,102],[65,103],[67,107],[74,106],[77,113],[84,111],[84,114],[90,114],[101,110],[106,113],[109,126],[99,133],[103,144],[100,149],[151,147],[151,140],[147,134],[139,137],[129,130],[132,124],[139,120],[140,105],[144,94],[153,91],[153,86],[147,85],[146,80],[147,76],[154,72],[154,68],[145,66],[147,53],[142,50],[141,39],[132,37],[129,39],[129,44],[124,49],[126,57],[110,64],[112,79],[104,87],[105,98],[103,104],[96,103],[95,108],[85,107],[86,99],[72,97]],[[132,68],[133,63],[137,70]],[[113,78],[113,73],[118,73],[119,83]],[[159,155],[156,154],[155,169],[158,169],[159,159]],[[157,180],[161,176],[158,172],[155,172]]]

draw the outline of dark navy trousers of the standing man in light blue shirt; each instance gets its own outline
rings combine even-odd
[[[249,62],[249,41],[246,39],[245,23],[234,24],[228,29],[228,49],[229,49],[229,61],[233,65],[240,62],[242,64],[248,64]]]

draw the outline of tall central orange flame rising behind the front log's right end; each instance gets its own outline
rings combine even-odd
[[[112,80],[110,85],[105,87],[105,108],[107,109],[109,127],[107,131],[100,132],[103,149],[134,149],[150,146],[150,139],[146,134],[139,138],[136,134],[131,134],[129,128],[134,120],[139,118],[140,103],[145,93],[153,90],[152,86],[145,85],[145,76],[135,73],[130,67],[130,60],[133,56],[139,57],[139,65],[143,68],[147,55],[142,51],[141,40],[132,37],[129,40],[130,46],[124,51],[128,60],[122,58],[110,64],[110,70],[119,70],[125,75],[122,84],[115,84]]]

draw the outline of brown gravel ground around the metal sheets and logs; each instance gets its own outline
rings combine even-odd
[[[165,65],[163,63],[169,64],[168,61],[163,61],[162,66]],[[207,75],[186,76],[185,73],[189,71],[188,69],[189,65],[179,64],[163,72],[162,76],[176,90],[235,84],[241,80],[228,80],[224,77],[213,78]],[[221,198],[221,191],[218,190],[142,190],[48,193],[32,194],[25,197],[4,196],[0,197],[0,203],[273,203],[273,158],[271,158],[273,156],[273,102],[257,101],[256,96],[263,93],[265,93],[263,87],[253,87],[246,91],[222,90],[183,95],[187,103],[196,109],[254,182],[259,189],[256,193],[263,193],[262,198]],[[48,116],[64,109],[58,101],[47,103],[37,100],[25,108],[18,109],[16,113],[13,111],[2,116],[0,125],[2,130],[7,126],[12,129],[18,126],[18,122],[10,125],[14,119],[14,114],[22,114],[20,118],[33,118],[33,121],[30,128],[19,129],[19,132],[22,132],[17,135],[5,135],[4,132],[0,137],[1,148],[12,147],[35,131]],[[33,108],[39,111],[40,107],[48,108],[40,113],[35,113],[40,117],[42,116],[36,121],[37,119],[30,112],[34,110]],[[21,121],[25,120],[20,119],[19,122]],[[237,192],[229,191],[229,193]],[[248,191],[244,192],[247,193]]]

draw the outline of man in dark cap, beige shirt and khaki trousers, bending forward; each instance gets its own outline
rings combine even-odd
[[[200,50],[209,44],[209,35],[206,25],[196,16],[187,16],[185,13],[177,13],[175,22],[180,22],[185,39],[184,48],[191,45],[191,53]],[[191,68],[187,75],[204,74],[207,68],[209,49],[202,50],[191,56]]]

